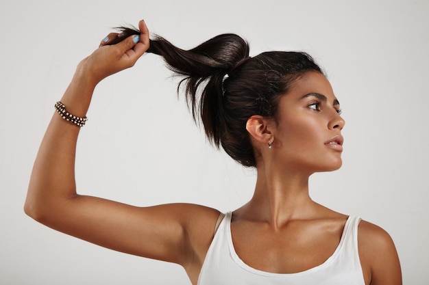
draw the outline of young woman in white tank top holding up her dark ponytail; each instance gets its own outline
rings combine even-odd
[[[139,30],[110,33],[77,66],[34,163],[29,216],[103,247],[181,264],[195,285],[402,284],[387,232],[308,195],[311,174],[341,167],[344,126],[339,100],[309,55],[249,57],[247,42],[232,34],[184,51],[149,40],[144,21]],[[241,208],[226,215],[195,204],[140,208],[77,194],[76,141],[93,90],[145,52],[185,76],[208,138],[256,167],[254,196]]]

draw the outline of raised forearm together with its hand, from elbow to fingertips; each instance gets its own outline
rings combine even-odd
[[[67,87],[62,104],[74,116],[84,117],[88,111],[95,86],[104,78],[134,66],[149,48],[149,31],[140,21],[140,36],[130,36],[118,44],[101,46],[79,63]],[[109,34],[114,40],[121,35]],[[104,42],[108,44],[109,41]],[[103,45],[103,44],[102,44]],[[53,102],[54,103],[54,102]],[[53,104],[52,103],[52,104]],[[77,198],[75,187],[75,151],[79,126],[54,113],[43,137],[32,176],[29,181],[25,213],[48,226],[58,228],[61,215],[77,211],[79,206],[64,207],[64,203]]]

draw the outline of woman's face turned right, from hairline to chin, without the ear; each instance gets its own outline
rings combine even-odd
[[[307,72],[280,98],[273,135],[275,159],[291,171],[324,172],[341,167],[345,124],[326,77]]]

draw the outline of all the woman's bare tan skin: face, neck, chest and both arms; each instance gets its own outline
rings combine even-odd
[[[97,83],[130,68],[147,51],[149,31],[144,21],[139,29],[137,44],[132,37],[115,45],[102,42],[79,63],[61,98],[71,113],[84,116]],[[312,93],[324,99],[308,95]],[[277,120],[249,118],[247,131],[259,154],[258,177],[252,200],[234,211],[231,226],[236,252],[249,266],[274,273],[304,271],[323,263],[339,244],[347,216],[308,195],[312,173],[341,166],[340,146],[326,144],[344,126],[338,110],[328,80],[308,72],[282,96]],[[78,194],[74,173],[78,134],[79,128],[53,115],[34,163],[25,213],[103,247],[181,264],[196,285],[219,211],[194,204],[136,207]],[[361,221],[358,246],[365,284],[402,284],[387,232]]]

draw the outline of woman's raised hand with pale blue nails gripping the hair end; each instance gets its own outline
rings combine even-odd
[[[145,21],[138,23],[140,36],[129,36],[118,44],[109,42],[121,37],[120,33],[110,33],[96,51],[86,57],[77,66],[77,72],[83,72],[87,79],[97,85],[104,78],[134,66],[147,49],[149,49],[149,30]]]

